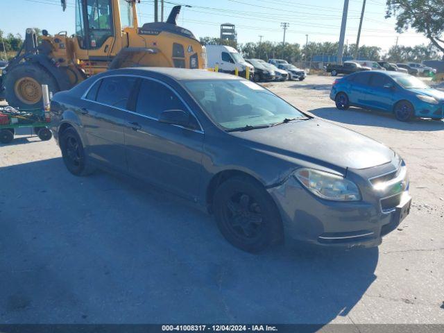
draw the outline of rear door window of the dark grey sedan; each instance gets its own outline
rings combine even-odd
[[[132,76],[110,76],[103,78],[96,101],[117,108],[126,108],[131,90],[137,78]]]

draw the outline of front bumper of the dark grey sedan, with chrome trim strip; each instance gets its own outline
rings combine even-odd
[[[395,230],[409,214],[411,203],[408,185],[396,194],[399,198],[393,200],[392,207],[383,209],[382,203],[391,200],[384,194],[377,197],[363,192],[363,200],[359,202],[323,200],[307,191],[293,176],[268,192],[280,210],[286,240],[321,246],[378,246],[382,237]]]

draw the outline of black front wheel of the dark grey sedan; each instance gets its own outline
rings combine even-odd
[[[278,207],[251,178],[236,176],[223,182],[214,194],[213,211],[223,237],[241,250],[258,253],[282,240]]]

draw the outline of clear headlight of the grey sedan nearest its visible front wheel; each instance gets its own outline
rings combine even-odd
[[[294,176],[319,198],[335,201],[361,200],[357,185],[342,176],[307,168],[298,169]]]

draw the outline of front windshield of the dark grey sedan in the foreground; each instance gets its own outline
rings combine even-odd
[[[275,94],[248,80],[189,80],[184,85],[207,116],[224,130],[250,129],[308,118]]]

